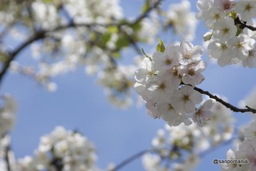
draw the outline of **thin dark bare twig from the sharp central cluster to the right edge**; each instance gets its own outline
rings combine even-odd
[[[217,95],[212,95],[212,93],[207,92],[205,90],[199,89],[198,87],[194,87],[194,90],[208,95],[210,98],[214,98],[216,101],[222,103],[222,105],[226,106],[226,108],[230,108],[234,112],[241,112],[241,113],[246,113],[246,112],[252,112],[256,113],[256,109],[250,108],[249,106],[246,106],[245,109],[237,108],[236,106],[231,105],[230,103],[227,103],[226,101],[222,100],[221,98],[218,98]]]

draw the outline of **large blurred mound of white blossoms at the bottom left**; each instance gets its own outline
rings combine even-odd
[[[18,159],[16,170],[98,170],[94,145],[80,133],[63,127],[41,137],[34,154]]]

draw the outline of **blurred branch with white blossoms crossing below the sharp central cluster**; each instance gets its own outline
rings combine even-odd
[[[218,111],[215,111],[215,116],[217,113]],[[228,113],[223,113],[223,116],[229,117]],[[217,119],[216,123],[219,126],[224,123],[228,125],[230,121],[226,119],[221,123]],[[236,137],[231,138],[231,132],[227,136],[227,132],[222,132],[220,127],[217,129],[217,125],[205,125],[207,130],[212,130],[209,132],[204,132],[196,124],[179,125],[178,127],[166,125],[165,129],[158,130],[156,137],[152,140],[153,147],[151,149],[145,149],[128,157],[109,171],[119,170],[139,157],[142,157],[145,170],[170,170],[172,166],[174,170],[186,170],[186,166],[190,169],[196,167],[199,164],[199,158],[202,159],[215,149],[229,145],[236,139]],[[186,156],[185,151],[193,151],[193,155]]]

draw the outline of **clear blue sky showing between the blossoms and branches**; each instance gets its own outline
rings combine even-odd
[[[170,2],[178,1],[167,0],[164,4],[168,6]],[[191,1],[194,11],[195,2]],[[139,0],[121,0],[124,14],[130,17],[140,12],[142,4],[143,1]],[[205,32],[206,29],[200,23],[194,44],[201,44]],[[127,58],[130,57],[125,57],[124,61]],[[208,61],[207,55],[203,58]],[[30,49],[18,56],[20,63],[31,63],[32,60]],[[256,85],[255,71],[255,68],[241,66],[221,68],[207,62],[207,69],[203,73],[206,80],[199,87],[224,95],[230,103],[236,105]],[[9,92],[18,101],[17,123],[12,132],[12,148],[16,156],[33,154],[39,137],[52,131],[56,125],[78,129],[94,142],[98,153],[97,164],[101,168],[105,168],[109,162],[118,164],[132,154],[150,148],[152,138],[158,129],[164,127],[164,122],[151,119],[145,107],[136,108],[133,105],[126,110],[115,108],[95,80],[95,76],[84,73],[84,68],[78,68],[73,73],[55,78],[58,89],[49,93],[31,79],[19,74],[7,74],[1,93]],[[241,113],[234,116],[239,120],[236,125],[247,123],[250,119]],[[229,148],[225,146],[204,157],[197,170],[219,170],[219,166],[213,165],[212,160],[225,159]],[[143,170],[140,159],[122,170]]]

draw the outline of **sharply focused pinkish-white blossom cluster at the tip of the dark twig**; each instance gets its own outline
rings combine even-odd
[[[184,122],[190,125],[193,121],[202,126],[202,120],[209,120],[213,101],[201,103],[202,95],[193,89],[204,81],[202,71],[206,62],[202,61],[201,46],[193,46],[183,41],[180,46],[170,45],[154,52],[153,57],[146,56],[142,66],[135,71],[135,89],[146,101],[148,114],[162,118],[170,126]],[[191,115],[192,114],[192,115]]]

